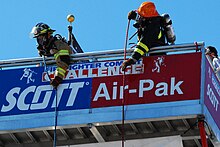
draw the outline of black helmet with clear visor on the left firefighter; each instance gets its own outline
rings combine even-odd
[[[32,28],[32,31],[31,31],[31,35],[33,38],[36,38],[40,35],[43,35],[43,34],[46,34],[48,32],[55,32],[55,30],[52,30],[47,24],[45,23],[38,23],[36,26],[34,26]]]

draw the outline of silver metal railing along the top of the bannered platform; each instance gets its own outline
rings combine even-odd
[[[187,52],[187,51],[201,51],[204,48],[203,42],[198,43],[188,43],[188,44],[177,44],[177,45],[168,45],[168,46],[160,46],[154,47],[150,49],[149,53],[160,53],[166,52],[176,53],[176,52]],[[126,55],[129,57],[134,49],[127,49]],[[87,53],[77,53],[71,55],[71,62],[92,62],[92,61],[101,61],[101,60],[109,60],[109,59],[123,59],[124,57],[124,49],[117,50],[105,50],[105,51],[94,51]],[[55,60],[53,57],[46,57],[45,61],[47,64],[54,64]],[[43,64],[42,57],[32,57],[32,58],[20,58],[20,59],[9,59],[9,60],[0,60],[0,68],[14,68],[14,67],[22,67],[22,66],[36,66]]]

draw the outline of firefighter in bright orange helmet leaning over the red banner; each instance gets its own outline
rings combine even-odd
[[[138,43],[131,58],[122,64],[123,71],[135,64],[150,48],[165,45],[164,20],[154,3],[143,2],[137,10],[129,12],[128,19],[136,20],[133,26],[138,29]]]

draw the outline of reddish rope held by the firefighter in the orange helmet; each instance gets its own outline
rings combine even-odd
[[[124,44],[124,61],[126,60],[126,52],[127,52],[127,44],[128,44],[128,31],[130,26],[130,20],[128,20],[128,25],[126,29],[126,37],[125,37],[125,44]],[[124,147],[124,122],[125,122],[125,71],[123,72],[123,99],[122,99],[122,133],[121,133],[121,140],[122,140],[122,147]]]

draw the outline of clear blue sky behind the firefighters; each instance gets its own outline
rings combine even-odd
[[[127,14],[143,0],[0,0],[0,60],[37,57],[29,37],[38,22],[67,37],[68,14],[75,16],[73,33],[84,52],[123,49]],[[169,13],[176,44],[204,41],[220,54],[219,0],[152,0],[160,14]],[[133,24],[133,22],[132,22]],[[131,36],[136,29],[130,27]],[[131,42],[136,43],[137,38]]]

